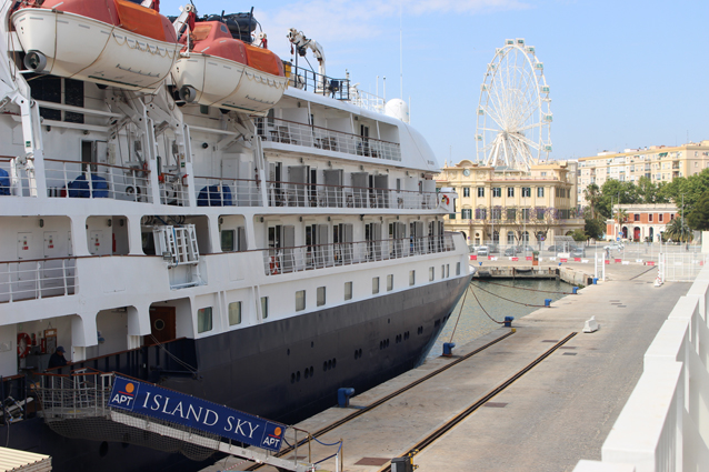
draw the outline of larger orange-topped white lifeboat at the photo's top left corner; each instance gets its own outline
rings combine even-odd
[[[182,48],[170,21],[127,0],[46,0],[12,13],[24,66],[130,90],[160,87]]]

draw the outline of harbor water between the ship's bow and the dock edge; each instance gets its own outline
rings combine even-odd
[[[515,317],[515,319],[518,320],[521,317],[537,311],[539,309],[537,305],[543,305],[545,299],[551,299],[553,302],[566,297],[565,293],[555,292],[571,292],[571,285],[569,283],[557,280],[496,279],[490,282],[485,282],[479,279],[473,279],[471,289],[478,297],[478,300],[476,300],[476,297],[473,297],[470,291],[460,299],[427,359],[441,355],[443,352],[443,343],[451,342],[451,334],[452,342],[462,345],[500,328],[501,324],[490,320],[485,311],[500,322],[505,320],[505,317]],[[512,300],[517,303],[505,299]],[[528,303],[536,307],[526,307],[520,303]],[[485,311],[482,311],[480,307],[482,307]],[[458,321],[457,328],[456,321]],[[512,325],[515,325],[513,322]],[[455,333],[453,329],[456,330]]]

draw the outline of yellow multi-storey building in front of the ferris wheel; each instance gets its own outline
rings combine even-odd
[[[469,244],[551,244],[555,235],[583,229],[577,218],[576,162],[532,165],[530,172],[463,160],[446,164],[436,187],[458,192],[446,229],[462,231]]]

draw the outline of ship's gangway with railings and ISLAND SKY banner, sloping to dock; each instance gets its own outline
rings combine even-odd
[[[218,451],[279,470],[318,470],[309,454],[308,461],[299,460],[297,448],[310,450],[307,442],[312,436],[293,426],[117,372],[81,369],[64,375],[39,374],[39,380],[38,414],[68,438],[132,443],[192,460],[206,460]],[[277,456],[284,441],[294,444],[293,459]],[[341,442],[336,446],[327,459],[337,458],[339,472]]]

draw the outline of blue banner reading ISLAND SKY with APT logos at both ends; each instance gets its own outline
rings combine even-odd
[[[286,432],[283,424],[118,375],[108,404],[276,452]]]

